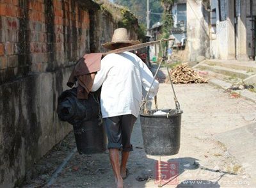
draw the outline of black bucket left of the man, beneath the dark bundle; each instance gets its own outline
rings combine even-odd
[[[106,151],[106,134],[98,118],[84,121],[81,127],[74,127],[76,146],[79,154],[102,153]]]

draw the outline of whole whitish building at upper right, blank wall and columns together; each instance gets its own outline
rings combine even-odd
[[[188,57],[255,59],[256,1],[188,0]]]

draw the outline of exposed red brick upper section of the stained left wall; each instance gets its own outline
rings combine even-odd
[[[52,71],[90,51],[88,10],[77,1],[1,1],[0,82]]]

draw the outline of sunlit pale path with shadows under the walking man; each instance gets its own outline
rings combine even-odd
[[[177,182],[173,180],[172,184],[164,187],[256,187],[243,168],[243,161],[238,161],[228,152],[227,146],[216,139],[218,134],[255,122],[256,104],[243,98],[231,98],[228,93],[209,84],[175,85],[175,90],[184,111],[180,152],[161,157],[161,161],[177,164],[179,176]],[[157,98],[159,108],[173,107],[169,84],[160,84]],[[63,155],[52,160],[58,161],[52,166],[60,164],[65,153],[72,150],[72,133],[63,143],[72,144],[70,149],[60,146],[58,152]],[[144,152],[139,120],[132,132],[132,145],[134,152],[128,162],[131,174],[124,180],[125,187],[157,187],[154,173],[159,157]],[[54,153],[56,148],[41,163],[50,161],[48,163],[51,164]],[[52,172],[53,168],[45,174],[49,177]],[[138,176],[147,180],[139,182],[136,180]],[[44,180],[45,175],[41,175],[41,180],[42,177]],[[108,152],[94,155],[76,153],[51,187],[115,187]]]

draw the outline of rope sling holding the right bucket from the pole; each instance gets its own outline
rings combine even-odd
[[[164,40],[164,38],[162,38],[162,39],[160,40],[160,48],[161,48],[161,52],[162,52],[162,58],[161,58],[161,61],[160,61],[159,65],[158,65],[158,67],[157,67],[156,73],[155,73],[155,75],[154,75],[154,80],[153,80],[152,84],[150,85],[149,90],[147,91],[146,97],[145,97],[144,100],[142,101],[142,104],[141,104],[141,106],[140,106],[140,110],[142,110],[142,108],[144,108],[145,104],[147,103],[147,98],[148,98],[149,92],[150,92],[150,90],[151,90],[151,88],[152,88],[152,86],[153,86],[153,84],[154,84],[154,81],[155,81],[155,79],[156,79],[156,75],[157,75],[157,73],[159,72],[159,69],[160,69],[160,67],[161,67],[161,65],[162,65],[162,63],[163,63],[163,61],[164,61],[166,70],[167,70],[167,72],[168,72],[168,77],[169,77],[170,82],[171,82],[171,88],[172,88],[172,92],[173,92],[173,99],[174,99],[174,102],[175,102],[175,107],[176,107],[177,111],[180,111],[180,104],[179,104],[179,101],[178,101],[178,99],[177,99],[175,90],[174,90],[174,88],[173,88],[172,77],[171,77],[171,75],[170,75],[169,68],[168,68],[167,63],[166,63],[166,59],[167,59],[167,58],[166,58],[166,47],[164,47],[164,51],[163,51],[163,45],[162,45],[163,40]],[[156,98],[155,98],[155,106],[156,106],[156,109],[157,109],[157,100],[156,100]]]

